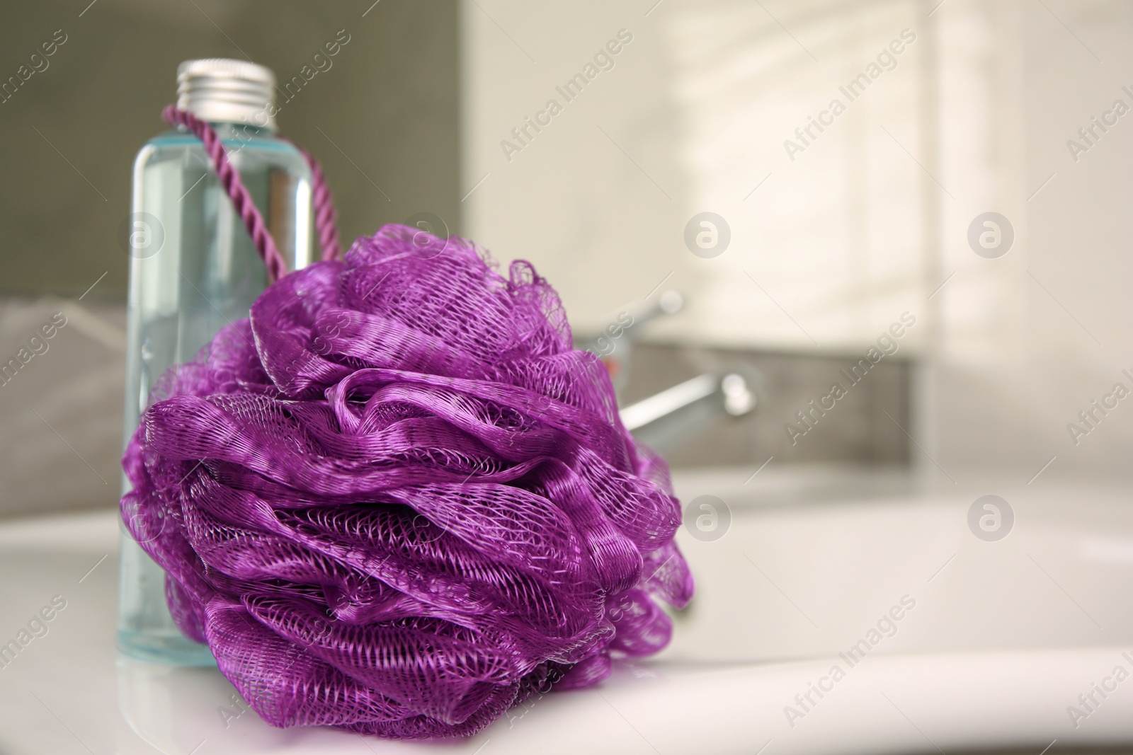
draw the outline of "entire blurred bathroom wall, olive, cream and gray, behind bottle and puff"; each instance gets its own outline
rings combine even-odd
[[[82,0],[0,24],[0,78],[66,35],[0,104],[0,354],[68,318],[0,387],[0,512],[117,499],[116,235],[177,63],[248,57],[287,78],[340,29],[350,42],[280,122],[323,162],[344,239],[433,212],[531,259],[581,337],[680,291],[685,308],[639,334],[651,351],[627,395],[721,354],[774,372],[756,424],[693,434],[678,462],[866,465],[861,444],[908,430],[915,445],[885,460],[945,484],[1128,473],[1133,404],[1068,430],[1133,388],[1133,120],[1079,132],[1133,108],[1128,3]],[[730,235],[707,258],[685,239],[705,212]],[[969,239],[985,213],[1013,235],[989,256]],[[798,403],[904,312],[889,375],[911,404],[878,383],[792,451]]]

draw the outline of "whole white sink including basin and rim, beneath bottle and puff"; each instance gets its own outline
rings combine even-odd
[[[717,495],[732,522],[715,541],[680,533],[698,595],[664,653],[460,743],[272,729],[215,669],[119,658],[114,515],[0,525],[0,640],[66,600],[0,668],[0,753],[1037,754],[1133,741],[1133,680],[1114,681],[1116,667],[1133,671],[1121,491],[999,489],[1015,521],[987,542],[968,525],[979,492],[920,495],[900,475],[744,486],[749,474],[676,478],[683,500]]]

